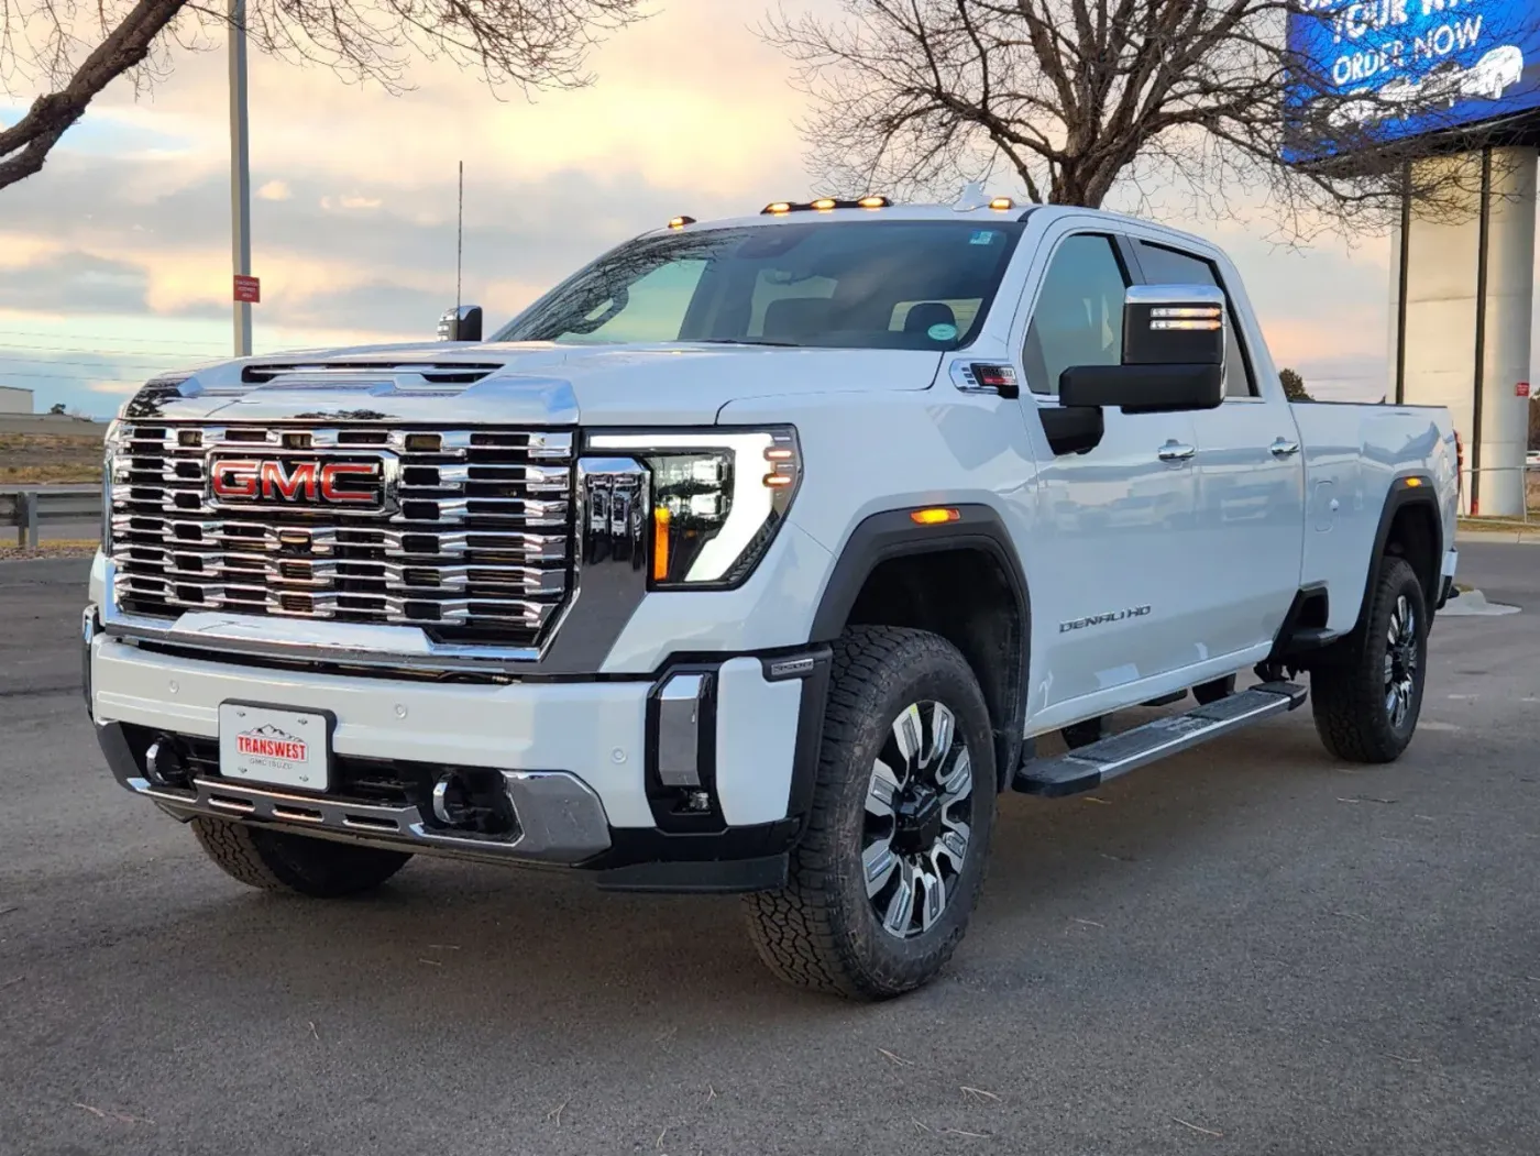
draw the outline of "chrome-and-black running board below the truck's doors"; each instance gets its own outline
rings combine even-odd
[[[1052,759],[1030,759],[1016,768],[1012,787],[1056,799],[1093,791],[1109,779],[1180,754],[1198,743],[1249,727],[1304,703],[1307,691],[1292,682],[1264,682],[1186,714],[1155,719],[1132,731],[1080,747]]]

